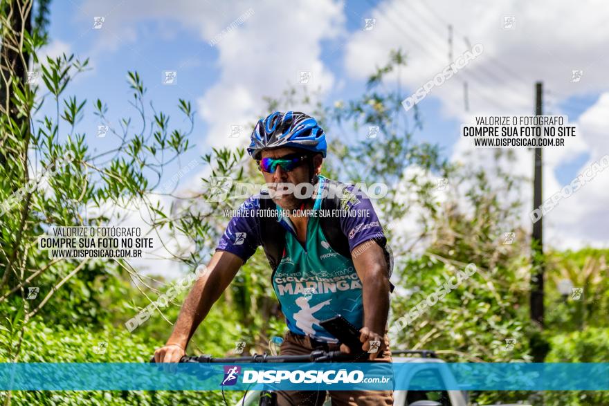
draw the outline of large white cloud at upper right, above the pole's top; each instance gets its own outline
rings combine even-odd
[[[513,29],[502,28],[504,16],[515,17]],[[565,16],[571,24],[565,24]],[[449,62],[448,24],[453,26],[453,59],[468,48],[465,36],[470,44],[484,46],[463,72],[428,95],[442,100],[449,116],[464,112],[464,81],[471,109],[491,113],[534,111],[537,80],[543,80],[552,98],[608,88],[609,59],[601,57],[609,35],[605,4],[444,0],[428,6],[419,0],[390,0],[380,3],[372,17],[374,30],[354,33],[347,44],[345,69],[354,78],[367,77],[386,62],[390,50],[401,47],[408,54],[401,82],[410,91],[418,89]],[[583,76],[572,83],[576,69]]]

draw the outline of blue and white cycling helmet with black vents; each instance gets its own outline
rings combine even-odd
[[[265,149],[293,147],[326,157],[326,136],[317,120],[300,111],[275,111],[257,122],[251,135],[248,154],[260,159]]]

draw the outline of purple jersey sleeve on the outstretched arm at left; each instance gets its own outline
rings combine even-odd
[[[254,255],[256,248],[260,246],[260,225],[257,217],[259,209],[260,201],[257,196],[251,196],[244,201],[237,214],[228,222],[216,251],[232,252],[243,259],[244,263]]]

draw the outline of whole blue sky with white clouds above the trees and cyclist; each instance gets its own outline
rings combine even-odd
[[[96,17],[104,17],[97,29]],[[565,115],[578,127],[565,147],[545,149],[547,199],[609,154],[608,18],[609,4],[597,0],[55,0],[43,53],[90,59],[93,69],[78,76],[67,94],[89,100],[80,129],[92,147],[110,141],[96,137],[94,100],[108,104],[114,124],[125,112],[134,116],[127,71],[138,71],[148,100],[170,113],[172,124],[188,124],[176,101],[190,100],[197,110],[191,137],[196,147],[176,164],[183,166],[212,147],[246,146],[264,96],[308,86],[320,89],[321,102],[348,100],[365,90],[367,77],[397,48],[406,51],[408,65],[399,79],[388,80],[399,80],[411,94],[442,72],[451,55],[482,44],[479,57],[419,102],[424,127],[415,140],[437,143],[453,162],[506,165],[532,178],[531,151],[516,149],[516,164],[497,163],[491,150],[474,150],[460,138],[460,125],[474,115],[534,113],[534,84],[543,81],[544,112]],[[366,27],[366,19],[374,20]],[[176,72],[174,84],[163,84],[165,71]],[[299,82],[302,71],[310,72],[307,84]],[[581,71],[579,79],[573,71]],[[235,125],[243,130],[230,137]],[[352,139],[366,133],[362,129]],[[327,136],[331,142],[331,131]],[[190,182],[197,182],[191,175]],[[546,242],[560,249],[608,247],[608,185],[606,170],[544,216]],[[531,194],[521,197],[531,202]],[[523,224],[530,229],[530,221]]]

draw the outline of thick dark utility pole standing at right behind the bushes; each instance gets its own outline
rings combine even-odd
[[[537,82],[535,84],[535,114],[540,116],[543,114],[543,84]],[[541,205],[542,199],[542,148],[535,148],[535,166],[533,176],[533,208],[536,209]],[[540,329],[543,329],[543,216],[538,221],[533,223],[533,234],[531,236],[531,256],[533,264],[533,272],[531,274],[531,320],[538,324]],[[543,345],[531,346],[531,352],[534,362],[543,362],[545,358],[545,348]]]

